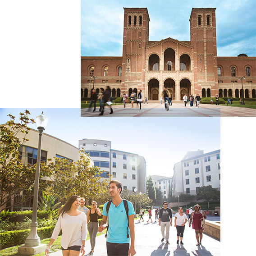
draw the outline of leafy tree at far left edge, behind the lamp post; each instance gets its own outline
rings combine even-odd
[[[1,210],[11,207],[10,202],[15,195],[23,191],[22,201],[28,201],[34,194],[34,182],[36,173],[35,165],[23,165],[18,149],[28,141],[26,135],[30,128],[29,123],[35,123],[29,118],[30,112],[25,110],[20,113],[19,123],[15,123],[15,117],[9,114],[10,121],[0,126],[0,206]],[[18,138],[18,134],[23,134]],[[20,136],[19,136],[20,137]],[[50,175],[48,170],[40,172],[40,178]],[[39,183],[39,191],[43,191],[49,185],[47,181]],[[14,202],[14,200],[13,200]],[[20,201],[13,203],[13,206]]]

